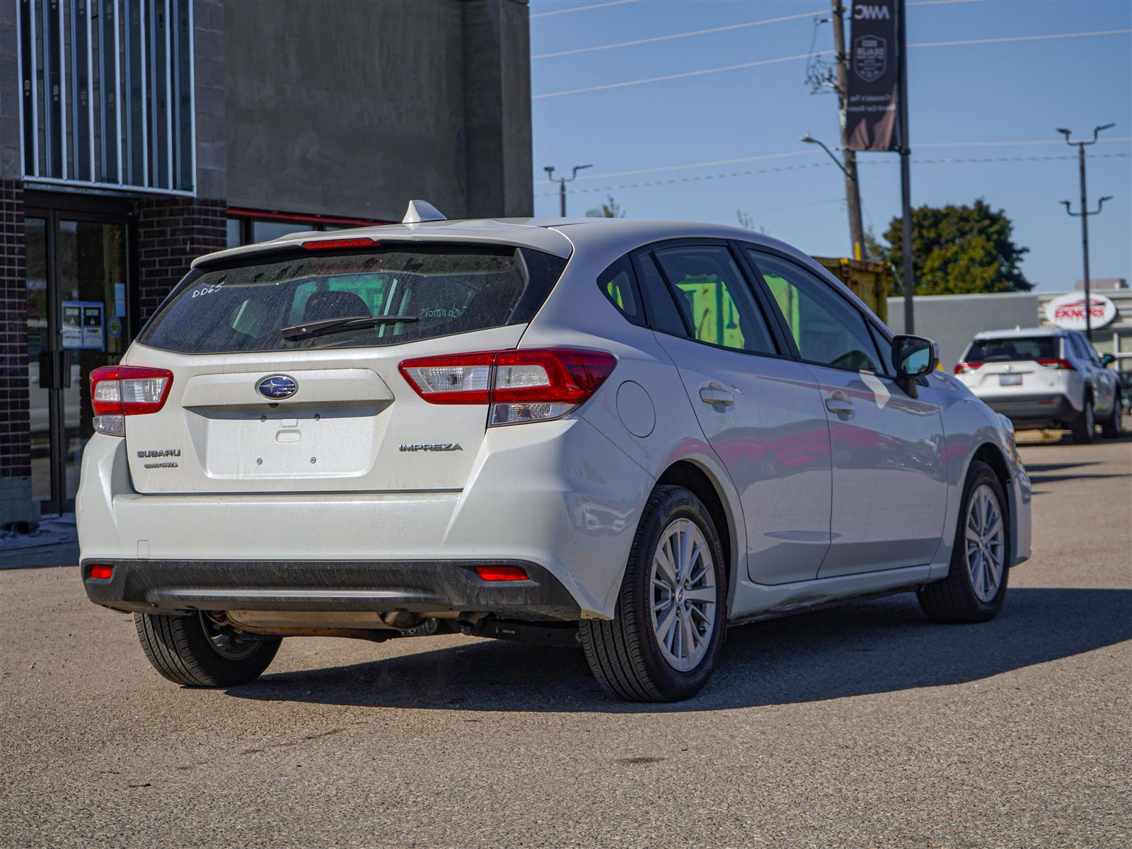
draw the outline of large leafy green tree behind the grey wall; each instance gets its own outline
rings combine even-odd
[[[912,209],[912,269],[917,294],[1029,292],[1034,289],[1019,264],[1029,248],[1012,239],[1006,213],[983,199],[974,206],[921,206]],[[889,247],[881,258],[892,263],[903,280],[901,220],[884,234]]]

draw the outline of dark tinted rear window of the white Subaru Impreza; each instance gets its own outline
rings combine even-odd
[[[563,267],[558,257],[515,248],[297,254],[190,275],[138,342],[182,353],[239,353],[392,345],[468,333],[530,320]],[[281,333],[375,316],[380,323],[321,335]],[[394,321],[397,317],[406,320]]]

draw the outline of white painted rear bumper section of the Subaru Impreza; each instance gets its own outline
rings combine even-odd
[[[278,589],[353,593],[366,590],[370,578],[377,589],[398,589],[396,582],[383,583],[388,564],[411,563],[455,564],[445,574],[463,591],[468,588],[458,581],[466,571],[458,564],[522,563],[565,588],[575,619],[611,618],[652,483],[581,419],[489,429],[468,484],[446,491],[143,495],[132,487],[125,440],[95,434],[83,454],[76,513],[83,563],[126,564],[139,575],[165,568],[153,564],[229,565],[216,577],[206,572],[207,581],[194,582],[192,589],[207,590],[209,581],[221,578],[221,589],[272,589],[272,569],[280,565],[288,575],[299,572],[294,586]],[[355,566],[320,572],[320,564]],[[225,583],[232,574],[242,576],[232,578],[243,580],[242,588]],[[402,589],[431,593],[430,606],[435,599],[451,598],[456,607],[469,602],[451,586],[414,581]],[[316,595],[328,604],[317,609],[342,609],[333,594]],[[473,593],[471,600],[477,599],[486,603],[498,597]],[[153,603],[136,593],[119,600]],[[532,597],[533,618],[543,602]],[[398,609],[411,600],[388,603],[385,609]],[[523,618],[517,608],[499,609]]]

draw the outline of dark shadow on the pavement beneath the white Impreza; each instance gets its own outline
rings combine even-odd
[[[1014,589],[996,619],[933,625],[912,595],[730,631],[711,683],[676,704],[606,695],[580,650],[483,641],[268,674],[239,698],[465,711],[657,713],[818,702],[989,678],[1132,638],[1132,590]],[[378,649],[380,651],[380,649]]]

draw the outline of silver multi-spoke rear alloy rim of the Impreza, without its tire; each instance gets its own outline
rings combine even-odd
[[[649,585],[661,654],[674,669],[695,669],[711,643],[718,601],[711,549],[695,522],[677,518],[660,534]]]

